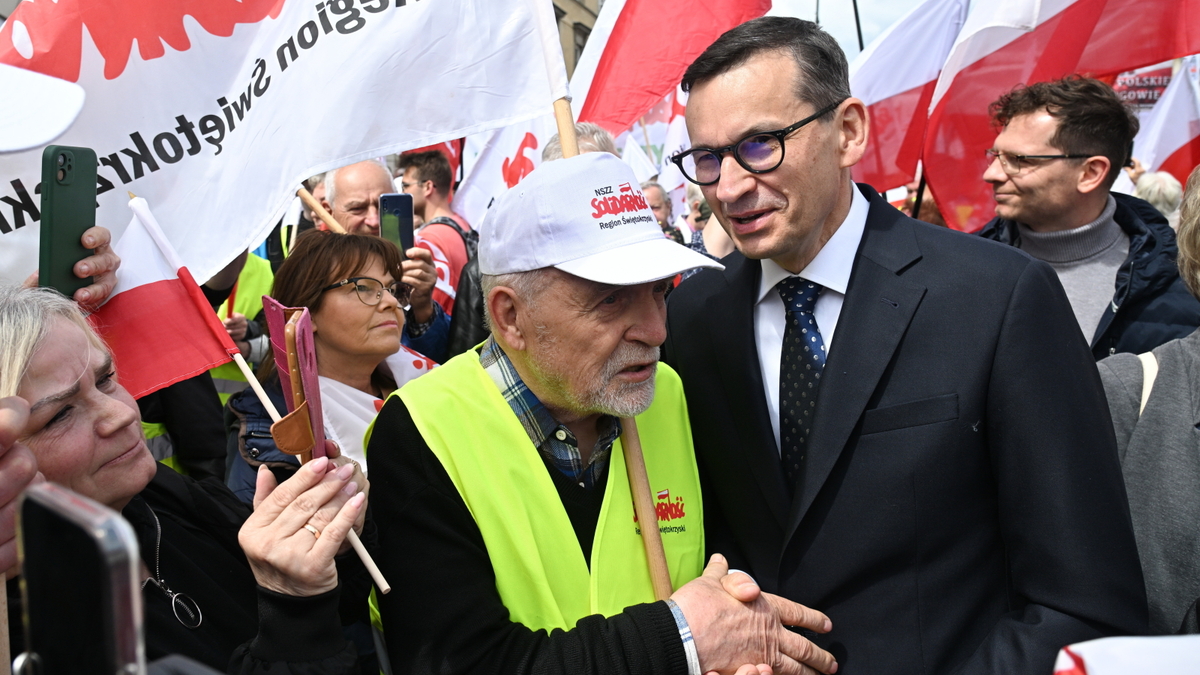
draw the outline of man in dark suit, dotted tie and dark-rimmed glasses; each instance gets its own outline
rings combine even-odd
[[[1147,621],[1096,368],[1048,265],[853,184],[846,71],[763,18],[684,76],[679,163],[738,247],[667,309],[708,546],[824,611],[839,674],[1050,673]]]

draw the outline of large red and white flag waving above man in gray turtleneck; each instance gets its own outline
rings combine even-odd
[[[973,232],[995,213],[983,172],[996,138],[988,106],[1000,95],[1198,52],[1200,0],[976,2],[937,80],[925,132],[925,177],[946,222]]]

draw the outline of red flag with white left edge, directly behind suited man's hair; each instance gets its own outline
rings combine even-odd
[[[607,0],[571,76],[575,119],[619,135],[722,32],[767,10],[770,0]]]

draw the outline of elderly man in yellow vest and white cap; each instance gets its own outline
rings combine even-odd
[[[834,673],[785,628],[827,617],[720,556],[704,567],[688,411],[658,358],[671,280],[720,265],[664,239],[632,171],[602,153],[542,165],[480,235],[491,336],[404,386],[368,431],[392,671]],[[635,519],[623,417],[656,524]],[[655,602],[647,525],[670,599]]]

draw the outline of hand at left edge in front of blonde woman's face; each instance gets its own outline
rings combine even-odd
[[[29,404],[19,396],[0,399],[0,569],[11,579],[17,565],[17,497],[44,480],[34,453],[17,441],[29,422]]]

